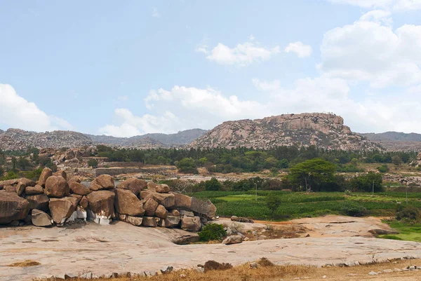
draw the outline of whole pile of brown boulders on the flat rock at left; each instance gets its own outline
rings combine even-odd
[[[137,178],[114,187],[114,179],[102,174],[86,186],[79,177],[67,179],[63,171],[44,168],[37,182],[0,181],[0,224],[63,226],[76,219],[98,224],[118,219],[134,226],[200,231],[215,212],[209,200],[173,193],[166,184]]]

